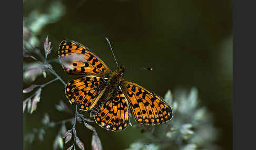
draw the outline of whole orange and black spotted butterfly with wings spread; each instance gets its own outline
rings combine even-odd
[[[117,65],[117,70],[112,72],[87,47],[73,40],[63,40],[58,51],[60,60],[72,55],[81,55],[84,60],[73,60],[69,64],[71,68],[63,66],[64,70],[84,77],[66,84],[66,96],[71,104],[77,103],[80,110],[89,111],[101,127],[124,130],[130,123],[129,108],[141,124],[161,124],[172,119],[172,109],[163,98],[123,79],[124,67]]]

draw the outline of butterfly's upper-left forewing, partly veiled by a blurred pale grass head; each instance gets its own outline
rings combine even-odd
[[[64,62],[65,58],[68,59],[71,56],[77,56],[79,59]],[[95,53],[93,53],[90,49],[83,46],[82,44],[73,40],[63,40],[61,42],[58,51],[58,57],[61,58],[60,61],[62,64],[67,63],[62,67],[68,74],[71,75],[85,74],[106,77],[105,74],[111,73],[111,70],[98,56],[96,56]]]

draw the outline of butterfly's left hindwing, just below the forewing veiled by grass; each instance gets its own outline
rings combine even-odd
[[[67,83],[65,93],[70,103],[80,104],[80,110],[93,108],[104,92],[108,78],[96,76],[80,77]]]

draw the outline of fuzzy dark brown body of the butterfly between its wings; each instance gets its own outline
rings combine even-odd
[[[125,71],[124,67],[119,67],[117,70],[112,72],[110,74],[109,80],[107,80],[106,86],[104,90],[102,91],[102,95],[99,98],[99,101],[93,105],[92,110],[91,110],[91,116],[94,116],[100,111],[101,106],[110,98],[113,97],[114,95],[117,95],[117,93],[113,91],[120,91],[120,82],[123,79],[123,73]]]

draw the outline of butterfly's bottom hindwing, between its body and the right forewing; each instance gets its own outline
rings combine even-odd
[[[114,91],[111,97],[101,107],[100,112],[94,116],[97,124],[106,130],[124,130],[129,124],[129,109],[124,93]]]

